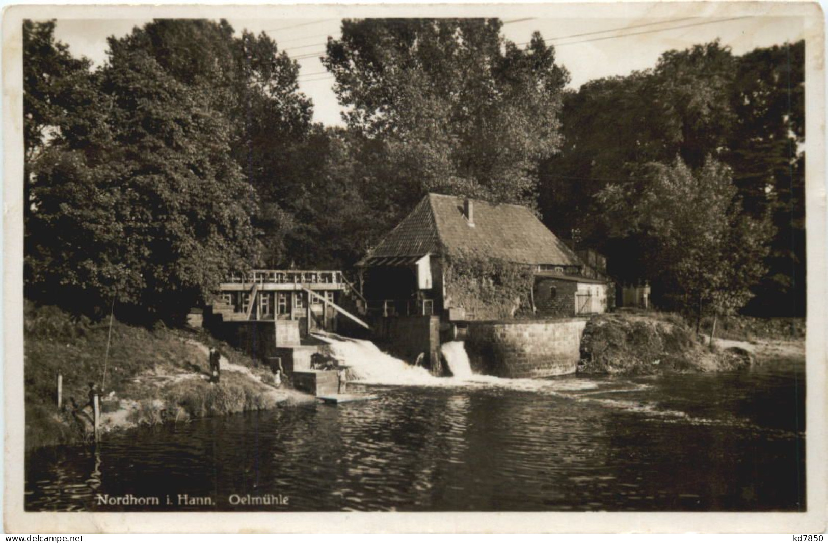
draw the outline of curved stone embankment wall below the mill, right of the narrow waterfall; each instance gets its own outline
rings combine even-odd
[[[588,318],[469,322],[465,349],[472,369],[508,378],[575,373]]]

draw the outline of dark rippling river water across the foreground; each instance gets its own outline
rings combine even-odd
[[[36,450],[26,457],[26,509],[806,509],[801,361],[724,374],[542,381],[436,380],[416,370],[400,379],[358,369],[363,381],[395,381],[351,385],[376,400]],[[179,504],[184,494],[198,503]],[[103,496],[158,504],[105,505]],[[245,505],[248,496],[281,498]]]

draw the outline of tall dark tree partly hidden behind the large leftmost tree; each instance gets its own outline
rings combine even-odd
[[[143,51],[179,84],[205,99],[229,127],[229,154],[256,189],[253,225],[262,240],[258,264],[288,264],[286,236],[299,227],[291,215],[297,168],[307,153],[313,107],[299,92],[299,65],[267,34],[235,36],[226,21],[162,19],[110,38],[111,56]],[[312,152],[311,152],[312,153]]]

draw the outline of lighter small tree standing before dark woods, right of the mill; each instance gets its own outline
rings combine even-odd
[[[619,237],[641,235],[647,274],[701,314],[733,313],[765,272],[767,220],[746,216],[729,167],[708,157],[696,171],[681,158],[650,162],[642,182],[611,184],[597,198]]]

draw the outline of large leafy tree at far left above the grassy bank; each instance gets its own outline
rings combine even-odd
[[[75,309],[117,297],[166,317],[256,258],[253,189],[203,90],[143,51],[113,52],[95,80],[108,131],[81,145],[84,117],[67,116],[39,162],[26,279]]]

